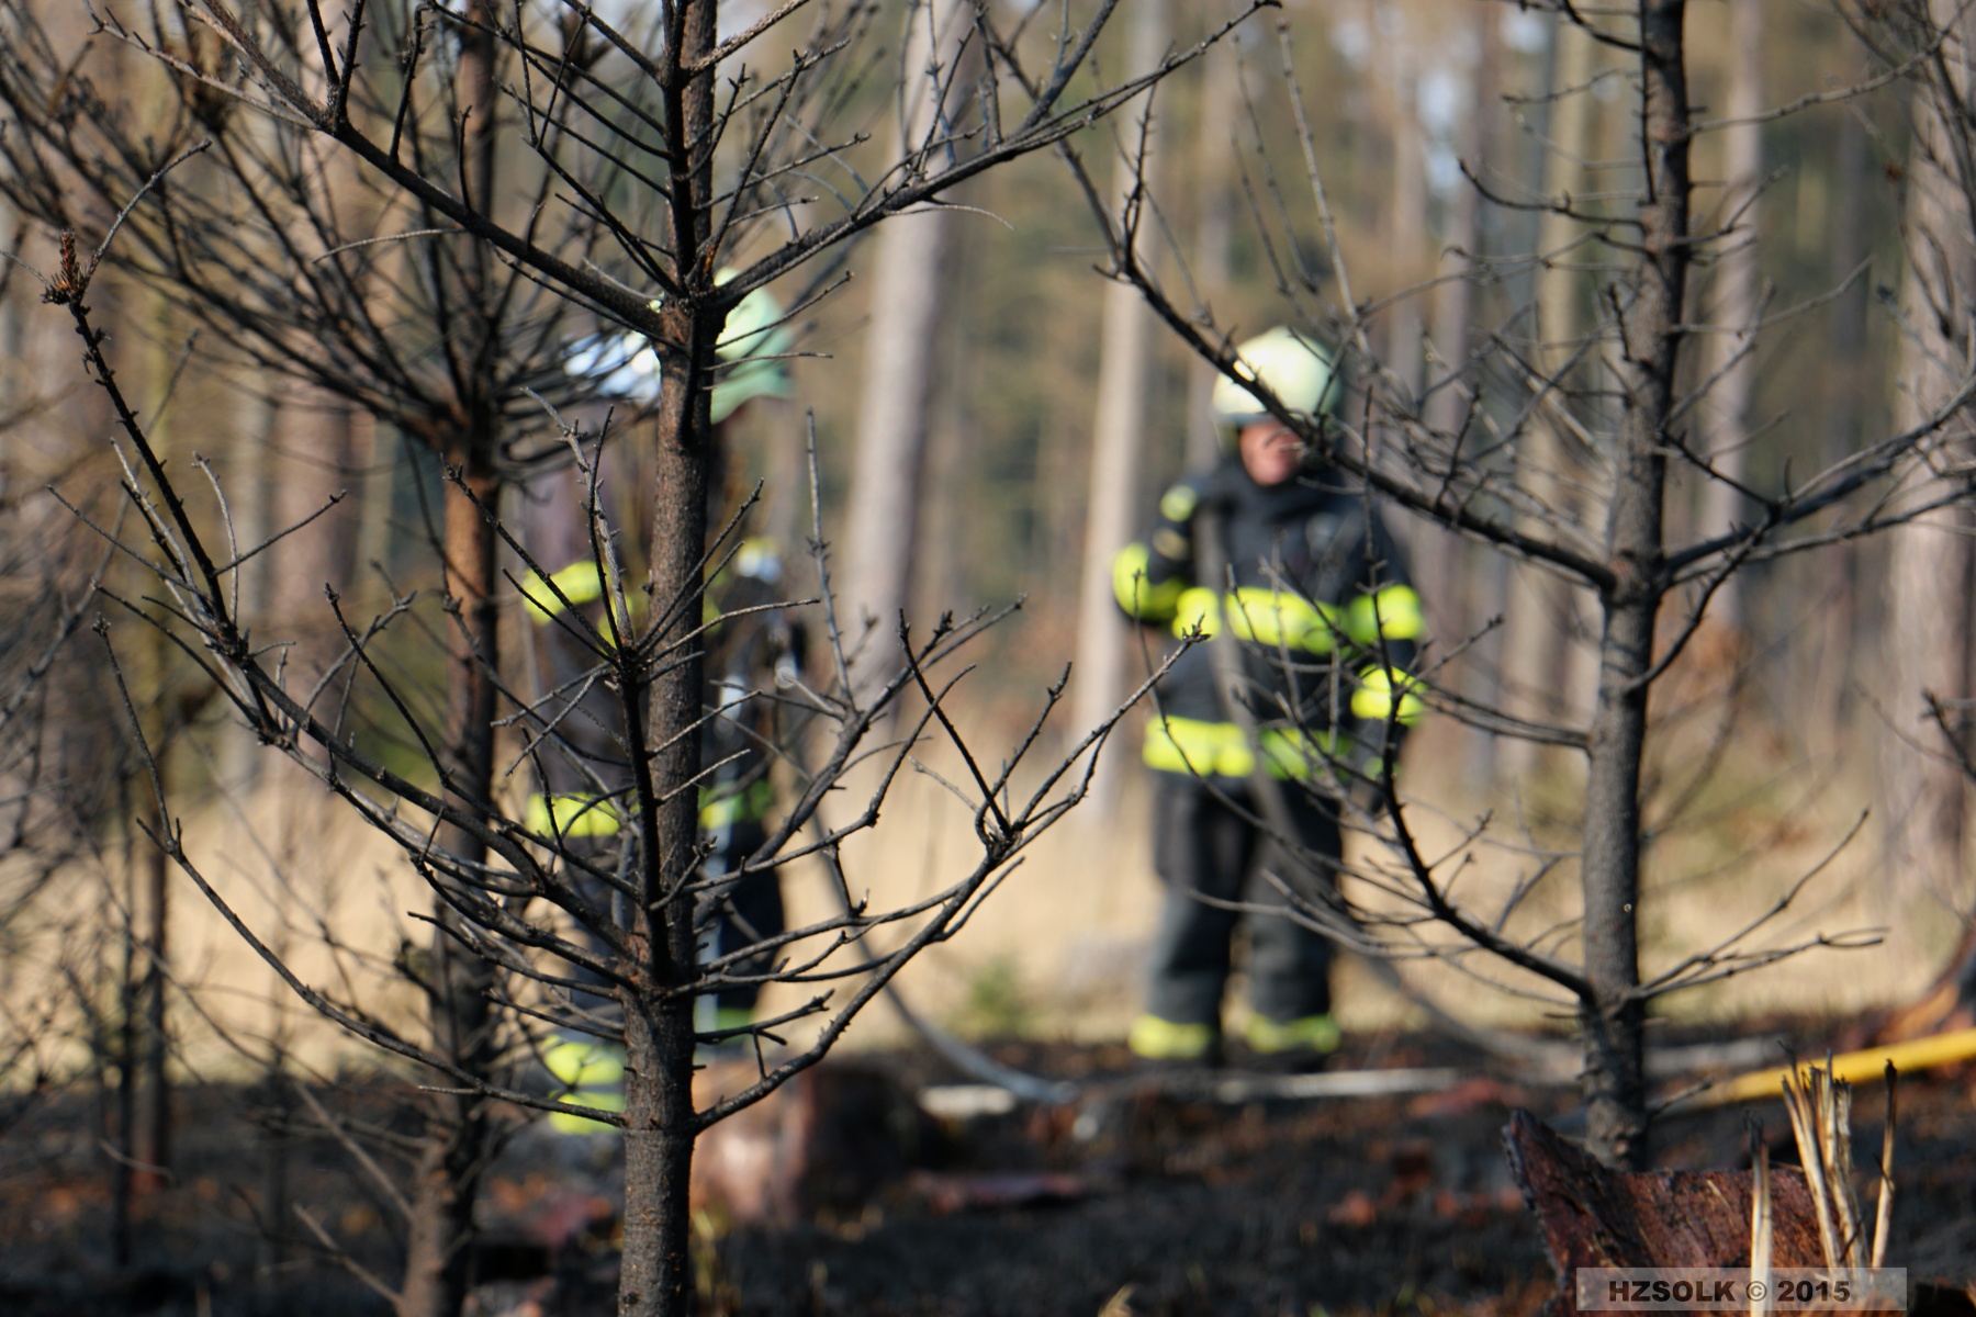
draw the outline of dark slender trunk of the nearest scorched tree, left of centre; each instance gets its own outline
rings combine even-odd
[[[717,39],[715,0],[674,0],[668,51],[672,67],[694,65]],[[713,69],[674,73],[666,87],[672,174],[672,249],[688,296],[666,312],[654,496],[652,598],[674,620],[658,642],[700,626],[701,555],[707,541],[707,470],[711,421],[707,373],[723,316],[700,298],[713,290],[715,253],[707,251],[713,195]],[[680,1317],[688,1311],[688,1189],[694,1169],[694,999],[678,989],[694,975],[694,898],[678,892],[698,859],[700,711],[703,663],[688,646],[684,661],[648,687],[644,736],[630,717],[632,772],[640,776],[648,817],[634,946],[644,964],[624,993],[624,1260],[618,1272],[618,1317]],[[644,776],[650,774],[650,776]]]

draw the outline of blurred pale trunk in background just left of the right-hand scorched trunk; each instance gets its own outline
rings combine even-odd
[[[1551,150],[1543,162],[1543,195],[1557,199],[1583,192],[1581,162],[1593,142],[1593,97],[1585,85],[1597,65],[1597,45],[1589,36],[1571,24],[1559,24],[1553,34],[1551,53],[1551,122],[1547,136]],[[1537,223],[1537,253],[1541,261],[1579,263],[1583,255],[1563,249],[1581,233],[1581,225],[1569,215],[1545,211]],[[1583,276],[1569,269],[1539,269],[1535,286],[1537,304],[1537,346],[1531,353],[1539,369],[1549,375],[1563,369],[1569,359],[1569,344],[1579,332],[1579,288]],[[1559,397],[1559,407],[1569,403]],[[1567,517],[1571,507],[1571,486],[1565,478],[1565,444],[1557,425],[1545,419],[1533,421],[1523,434],[1518,464],[1518,486],[1545,507],[1529,513],[1529,529],[1545,531],[1545,521]],[[1557,721],[1571,713],[1569,703],[1569,632],[1575,602],[1571,588],[1537,567],[1518,563],[1510,569],[1510,596],[1506,608],[1504,634],[1504,707],[1523,719]],[[1567,693],[1559,699],[1559,693]],[[1508,740],[1502,746],[1502,768],[1510,780],[1529,776],[1541,762],[1541,746],[1527,740]]]

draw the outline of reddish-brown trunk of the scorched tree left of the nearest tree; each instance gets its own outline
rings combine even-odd
[[[488,0],[472,0],[468,24],[492,26]],[[496,38],[474,28],[460,36],[458,97],[462,126],[462,182],[468,199],[494,209],[494,109]],[[496,265],[484,245],[466,253],[468,288],[456,332],[466,359],[458,430],[441,454],[460,484],[445,490],[445,582],[458,614],[449,628],[447,723],[441,758],[453,804],[486,815],[494,798],[496,673],[500,671],[500,610],[496,604],[498,537],[488,511],[498,505],[494,468],[500,421],[484,381],[492,379],[500,351],[492,322]],[[464,486],[464,490],[460,488]],[[472,498],[468,498],[472,494]],[[478,502],[478,504],[476,504]],[[462,867],[486,861],[486,847],[464,827],[445,825],[439,845]],[[435,898],[427,1013],[437,1050],[470,1074],[494,1066],[492,968],[466,952],[454,934],[462,916]],[[474,1285],[474,1199],[492,1151],[486,1102],[470,1094],[435,1098],[427,1145],[419,1157],[405,1244],[405,1283],[399,1317],[456,1317]]]

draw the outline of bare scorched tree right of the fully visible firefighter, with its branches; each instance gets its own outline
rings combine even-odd
[[[1361,900],[1304,898],[1304,916],[1371,956],[1441,958],[1498,985],[1508,975],[1516,991],[1569,1011],[1583,1045],[1591,1149],[1606,1163],[1638,1165],[1648,1155],[1644,1023],[1654,997],[1743,973],[1808,946],[1871,942],[1863,934],[1765,942],[1761,932],[1790,904],[1800,881],[1751,926],[1705,950],[1680,954],[1672,964],[1642,969],[1640,879],[1658,823],[1644,812],[1644,768],[1654,740],[1650,697],[1695,638],[1711,598],[1737,573],[1903,525],[1964,500],[1966,476],[1931,464],[1972,381],[1956,367],[1950,385],[1931,393],[1933,401],[1897,432],[1810,476],[1790,474],[1778,488],[1757,488],[1739,468],[1717,462],[1697,442],[1697,403],[1749,357],[1757,334],[1788,318],[1792,308],[1761,324],[1699,324],[1689,290],[1697,265],[1751,241],[1755,207],[1747,195],[1713,209],[1697,203],[1693,142],[1731,124],[1703,120],[1691,103],[1688,6],[1642,0],[1624,16],[1589,16],[1571,4],[1545,8],[1553,10],[1559,36],[1569,32],[1573,39],[1595,41],[1624,61],[1634,113],[1630,186],[1587,195],[1520,194],[1472,166],[1470,186],[1486,201],[1543,215],[1539,231],[1553,229],[1551,217],[1561,219],[1569,237],[1559,249],[1472,257],[1470,269],[1490,286],[1518,271],[1559,263],[1585,280],[1595,316],[1581,334],[1559,344],[1541,316],[1533,324],[1531,308],[1516,306],[1494,334],[1476,336],[1474,351],[1448,357],[1458,369],[1425,391],[1411,383],[1413,371],[1377,348],[1379,316],[1391,314],[1395,298],[1361,304],[1354,296],[1352,263],[1336,239],[1320,156],[1290,63],[1290,28],[1278,24],[1282,85],[1304,174],[1300,188],[1308,188],[1308,203],[1328,243],[1328,269],[1306,269],[1294,235],[1271,227],[1269,209],[1286,207],[1286,201],[1282,176],[1267,156],[1251,164],[1251,190],[1267,197],[1253,219],[1278,272],[1282,318],[1310,344],[1334,351],[1361,387],[1338,421],[1296,413],[1276,397],[1267,399],[1271,413],[1302,434],[1324,468],[1320,478],[1346,480],[1365,498],[1385,500],[1478,547],[1571,582],[1597,616],[1599,659],[1597,699],[1583,725],[1478,705],[1442,681],[1448,656],[1458,656],[1478,636],[1442,638],[1417,673],[1419,693],[1444,713],[1498,735],[1575,752],[1583,776],[1573,786],[1581,829],[1573,855],[1547,855],[1531,845],[1523,877],[1506,896],[1486,902],[1458,896],[1454,877],[1478,847],[1490,845],[1490,819],[1464,825],[1452,849],[1429,849],[1419,835],[1421,806],[1399,796],[1389,764],[1332,756],[1306,790],[1377,833],[1389,859],[1359,873],[1367,883]],[[1887,85],[1917,63],[1919,55],[1893,55],[1865,87],[1816,93],[1788,111],[1804,113]],[[1555,93],[1587,95],[1587,83]],[[1251,136],[1261,140],[1261,124]],[[1087,194],[1099,195],[1091,186]],[[1134,243],[1130,211],[1103,219],[1112,276],[1136,284],[1194,351],[1263,397],[1267,381],[1257,383],[1259,367],[1233,348],[1239,334],[1162,284]],[[1409,296],[1421,290],[1397,294]],[[1703,334],[1733,336],[1735,351],[1703,369],[1697,351]],[[1557,442],[1559,434],[1569,444]],[[1731,486],[1747,515],[1735,525],[1670,541],[1670,492],[1697,484]],[[1571,494],[1559,498],[1559,492]],[[1235,606],[1233,596],[1229,606]],[[1344,644],[1332,636],[1324,642]],[[1290,669],[1300,661],[1294,650],[1273,659]],[[1273,701],[1259,717],[1286,731],[1324,733],[1324,725],[1304,721],[1294,701]],[[1516,918],[1527,912],[1531,891],[1567,859],[1579,877],[1573,910],[1559,924],[1520,926]],[[1575,954],[1569,940],[1577,942]]]

